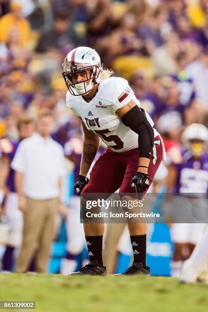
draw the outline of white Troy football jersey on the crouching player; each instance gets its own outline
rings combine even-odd
[[[126,127],[115,113],[131,100],[140,107],[140,102],[128,82],[120,77],[103,80],[90,102],[86,102],[82,96],[71,95],[69,91],[66,94],[66,106],[82,118],[90,131],[98,134],[116,152],[138,147],[138,134]],[[152,119],[147,113],[146,115],[153,126]],[[154,137],[157,135],[158,132],[154,129]]]

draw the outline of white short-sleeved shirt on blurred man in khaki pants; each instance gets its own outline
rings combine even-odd
[[[24,174],[23,194],[33,199],[59,197],[58,180],[65,173],[63,148],[56,141],[35,133],[23,140],[11,164]]]

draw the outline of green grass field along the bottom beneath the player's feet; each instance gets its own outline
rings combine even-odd
[[[0,274],[0,301],[10,300],[36,301],[38,311],[207,312],[208,285],[169,277]]]

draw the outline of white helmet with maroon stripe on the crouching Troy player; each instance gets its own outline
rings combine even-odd
[[[72,95],[84,95],[89,93],[95,84],[101,82],[102,65],[97,52],[87,46],[80,46],[71,50],[62,64],[64,71],[62,75],[69,92]],[[91,70],[91,76],[84,82],[72,84],[71,74],[78,72],[86,72]]]

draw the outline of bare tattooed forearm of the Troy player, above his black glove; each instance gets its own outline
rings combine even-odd
[[[93,144],[83,143],[82,160],[80,166],[80,174],[87,175],[90,166],[95,158],[98,147]]]

